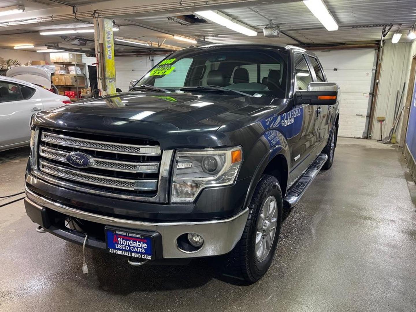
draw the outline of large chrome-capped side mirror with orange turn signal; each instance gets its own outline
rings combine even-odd
[[[310,82],[307,91],[295,92],[298,105],[334,105],[338,99],[338,84],[335,82]]]

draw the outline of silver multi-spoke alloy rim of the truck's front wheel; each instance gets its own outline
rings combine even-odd
[[[263,203],[257,221],[255,253],[260,262],[264,261],[272,249],[277,227],[277,201],[269,196]]]

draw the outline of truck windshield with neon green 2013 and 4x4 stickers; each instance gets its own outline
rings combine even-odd
[[[270,48],[207,47],[171,54],[136,86],[151,85],[171,92],[201,88],[209,92],[234,90],[246,94],[285,98],[287,52]]]

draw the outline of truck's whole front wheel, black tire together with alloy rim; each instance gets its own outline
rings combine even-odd
[[[241,240],[226,255],[225,274],[248,282],[256,282],[265,275],[272,264],[280,235],[282,204],[277,178],[262,175],[248,206]]]

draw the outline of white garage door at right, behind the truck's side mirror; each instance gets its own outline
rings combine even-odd
[[[328,81],[341,87],[339,136],[362,138],[366,131],[375,52],[374,49],[315,52]]]

